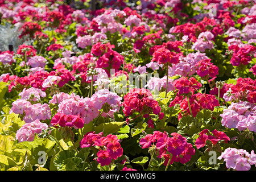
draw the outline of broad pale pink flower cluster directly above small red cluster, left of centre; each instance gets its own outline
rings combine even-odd
[[[89,97],[70,97],[63,99],[59,103],[58,113],[63,113],[65,115],[80,115],[84,119],[85,123],[89,123],[99,114],[97,106],[93,103],[93,100]]]

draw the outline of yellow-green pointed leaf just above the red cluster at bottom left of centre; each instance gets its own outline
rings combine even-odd
[[[126,121],[101,123],[100,125],[94,127],[94,131],[96,133],[100,133],[101,131],[103,131],[104,134],[113,134],[116,133],[125,123]]]

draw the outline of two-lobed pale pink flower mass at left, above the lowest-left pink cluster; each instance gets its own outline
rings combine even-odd
[[[24,114],[23,120],[26,123],[35,121],[36,119],[46,120],[51,118],[51,109],[48,104],[31,104],[31,102],[18,99],[13,102],[13,107],[11,107],[10,114]]]

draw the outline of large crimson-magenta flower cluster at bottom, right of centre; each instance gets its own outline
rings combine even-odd
[[[171,136],[173,137],[169,137],[166,132],[154,131],[154,134],[147,134],[142,138],[139,144],[141,144],[142,148],[155,147],[157,157],[164,157],[165,159],[164,166],[167,166],[169,160],[170,164],[174,162],[182,164],[189,162],[192,155],[195,155],[195,148],[182,135],[172,133]]]

